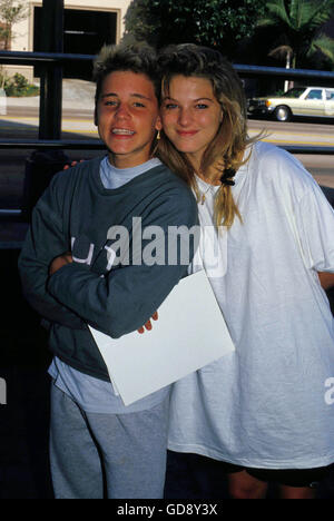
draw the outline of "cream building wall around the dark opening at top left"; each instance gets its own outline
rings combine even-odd
[[[26,20],[13,26],[13,39],[11,50],[16,51],[32,51],[33,50],[33,8],[41,7],[42,0],[28,0],[29,17]],[[65,0],[65,8],[79,9],[79,10],[95,10],[95,11],[111,11],[117,12],[118,27],[117,27],[117,42],[121,39],[124,33],[124,17],[131,3],[131,0]],[[6,67],[8,73],[14,72],[23,73],[29,80],[32,80],[31,67]]]

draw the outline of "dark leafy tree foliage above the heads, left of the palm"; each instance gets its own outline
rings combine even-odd
[[[225,55],[250,37],[265,0],[132,0],[125,17],[125,39],[157,48],[194,42]]]

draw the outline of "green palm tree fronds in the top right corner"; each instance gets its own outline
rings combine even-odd
[[[296,67],[302,57],[320,51],[334,63],[334,40],[321,33],[322,26],[333,14],[334,0],[271,0],[267,14],[259,27],[276,26],[281,29],[281,45],[271,56],[284,56],[286,67]]]

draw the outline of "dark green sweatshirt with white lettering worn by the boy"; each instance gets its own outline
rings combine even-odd
[[[108,381],[87,324],[115,338],[143,326],[187,274],[181,250],[190,244],[190,262],[196,245],[187,230],[198,225],[198,216],[190,189],[167,167],[155,167],[110,190],[101,183],[100,161],[79,164],[52,179],[33,210],[19,271],[26,298],[48,321],[53,354]],[[132,225],[139,219],[143,233],[151,226],[164,230],[159,252],[165,252],[165,263],[147,265],[138,258]],[[121,253],[116,247],[119,237],[110,234],[116,226],[128,230],[129,250],[111,267],[111,249]],[[141,238],[140,252],[150,244]],[[175,244],[177,252],[170,252]],[[65,252],[72,253],[73,263],[49,277],[50,263]]]

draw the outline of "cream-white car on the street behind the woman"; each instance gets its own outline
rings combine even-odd
[[[279,97],[248,100],[248,114],[273,116],[277,121],[288,121],[293,116],[334,118],[334,88],[294,87]]]

